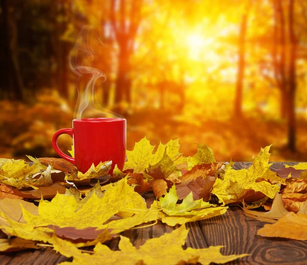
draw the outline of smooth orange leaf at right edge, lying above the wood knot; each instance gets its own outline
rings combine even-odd
[[[289,212],[276,223],[260,228],[257,235],[307,240],[307,215]]]

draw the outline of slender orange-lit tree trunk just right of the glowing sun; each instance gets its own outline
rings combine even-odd
[[[245,41],[246,41],[246,29],[248,21],[248,11],[242,16],[239,33],[239,50],[238,50],[238,70],[236,80],[236,92],[234,100],[234,114],[235,116],[242,117],[242,93],[245,71]]]

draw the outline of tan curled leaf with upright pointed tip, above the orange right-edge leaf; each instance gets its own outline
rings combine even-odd
[[[278,192],[276,193],[272,208],[268,212],[259,212],[259,211],[252,211],[245,207],[245,203],[243,203],[243,211],[245,215],[257,219],[259,221],[265,222],[276,222],[277,219],[281,218],[282,216],[288,213],[288,210],[284,207],[281,194]]]

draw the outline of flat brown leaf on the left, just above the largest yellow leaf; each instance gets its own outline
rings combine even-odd
[[[53,184],[50,186],[39,187],[38,190],[22,191],[13,189],[14,194],[17,196],[23,196],[29,199],[40,199],[41,196],[44,199],[53,198],[57,193],[65,194],[66,188],[59,184]]]

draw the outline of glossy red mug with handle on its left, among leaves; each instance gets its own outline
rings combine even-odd
[[[74,158],[64,154],[57,145],[61,134],[73,137]],[[74,164],[85,173],[94,163],[112,160],[112,174],[115,165],[123,169],[126,159],[126,120],[122,118],[81,118],[73,120],[73,129],[61,129],[52,137],[52,146],[62,158]]]

